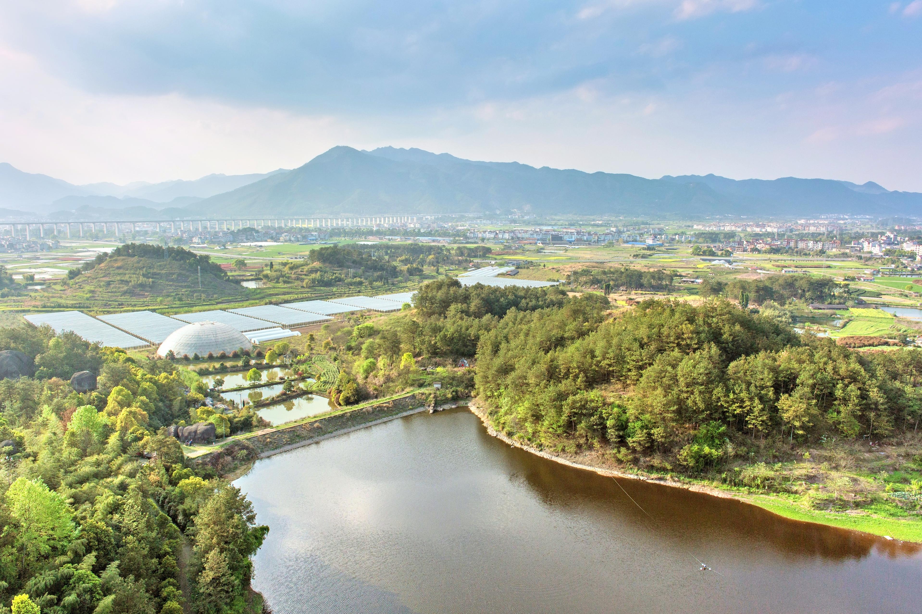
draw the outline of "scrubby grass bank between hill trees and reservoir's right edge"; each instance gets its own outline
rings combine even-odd
[[[650,459],[625,462],[611,449],[586,450],[565,441],[548,445],[499,433],[486,411],[476,404],[471,410],[494,436],[544,458],[603,475],[730,496],[792,520],[922,543],[922,441],[916,437],[873,448],[846,443],[798,449],[798,459],[786,462],[728,463],[732,466],[719,472],[686,476],[656,468]]]

